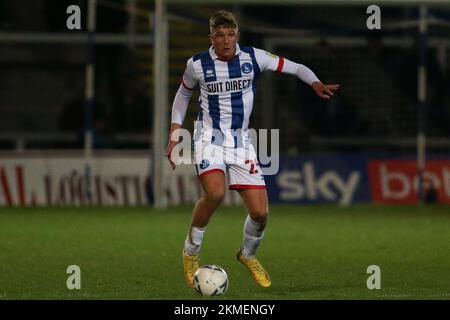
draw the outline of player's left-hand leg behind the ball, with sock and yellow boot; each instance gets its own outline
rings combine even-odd
[[[200,173],[199,180],[203,192],[194,207],[183,249],[184,275],[189,287],[193,287],[194,274],[199,267],[198,255],[206,226],[225,195],[225,175],[222,169],[215,168]]]

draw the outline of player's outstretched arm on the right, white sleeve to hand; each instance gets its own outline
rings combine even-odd
[[[309,84],[316,94],[323,99],[330,99],[333,91],[339,89],[338,84],[323,84],[314,72],[307,66],[293,62],[265,50],[254,48],[256,61],[261,71],[277,71],[296,75],[303,82]]]

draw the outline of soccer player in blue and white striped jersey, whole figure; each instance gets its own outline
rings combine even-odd
[[[296,75],[324,99],[339,85],[322,84],[306,66],[253,47],[238,45],[238,24],[231,12],[218,11],[209,20],[211,47],[187,61],[172,106],[172,122],[166,149],[172,169],[174,146],[192,91],[200,87],[200,111],[194,132],[195,169],[203,189],[196,203],[183,249],[186,282],[193,287],[199,252],[208,222],[229,188],[237,190],[247,208],[244,238],[237,259],[261,287],[271,285],[267,271],[256,259],[269,212],[266,185],[248,134],[256,79],[263,71]],[[230,161],[232,159],[233,161]]]

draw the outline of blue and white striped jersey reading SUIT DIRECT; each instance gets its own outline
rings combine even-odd
[[[281,72],[283,63],[282,57],[237,44],[230,61],[219,60],[212,47],[190,58],[182,84],[189,90],[200,87],[195,139],[234,148],[247,141],[257,78],[266,70]]]

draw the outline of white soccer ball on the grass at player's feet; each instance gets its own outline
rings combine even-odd
[[[194,289],[203,296],[220,296],[228,289],[228,275],[221,267],[206,264],[194,274]]]

